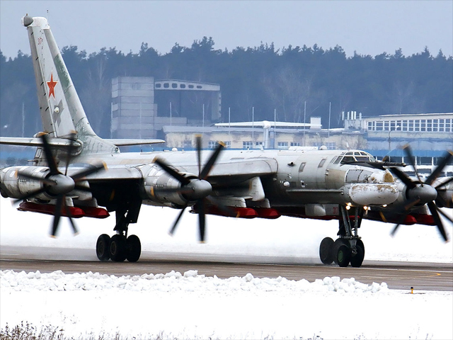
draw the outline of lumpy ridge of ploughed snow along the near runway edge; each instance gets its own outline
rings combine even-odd
[[[311,291],[318,293],[377,293],[388,290],[386,283],[360,283],[355,278],[338,276],[317,279],[313,283],[302,280],[287,280],[287,278],[255,278],[248,273],[242,278],[206,277],[197,275],[197,271],[186,271],[184,274],[171,271],[166,274],[143,274],[142,276],[113,276],[100,273],[65,274],[62,271],[53,273],[20,273],[16,271],[0,271],[1,291],[73,291],[73,290],[131,290],[134,292],[221,292],[234,294],[237,291],[252,293]]]

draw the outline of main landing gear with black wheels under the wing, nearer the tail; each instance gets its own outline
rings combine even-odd
[[[111,259],[115,262],[129,261],[137,262],[142,253],[142,244],[136,235],[127,237],[127,229],[130,223],[136,223],[138,210],[117,209],[116,210],[116,234],[113,237],[102,234],[96,242],[96,255],[101,261]]]

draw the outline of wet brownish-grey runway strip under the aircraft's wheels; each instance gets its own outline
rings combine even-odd
[[[26,251],[24,250],[26,249]],[[63,253],[63,255],[62,255]],[[72,255],[71,255],[72,254]],[[76,257],[74,255],[77,255]],[[78,259],[77,259],[78,258]],[[84,261],[81,261],[83,259]],[[203,261],[202,261],[203,259]],[[305,260],[305,261],[304,261]],[[319,260],[318,260],[319,261]],[[101,262],[88,249],[46,249],[2,246],[0,269],[14,271],[40,271],[49,273],[104,273],[115,276],[135,276],[144,273],[184,273],[197,270],[200,275],[229,278],[252,273],[258,278],[285,277],[289,280],[306,279],[310,282],[326,276],[355,278],[362,283],[386,282],[389,288],[414,292],[419,290],[453,291],[452,263],[413,263],[396,261],[364,261],[361,268],[340,268],[335,265],[324,266],[314,259],[300,259],[299,263],[289,263],[287,259],[220,259],[188,254],[160,254],[143,252],[136,263],[111,261]]]

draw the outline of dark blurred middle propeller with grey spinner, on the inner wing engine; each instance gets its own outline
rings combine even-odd
[[[185,208],[188,207],[189,203],[195,202],[195,205],[197,206],[197,213],[198,213],[198,225],[200,229],[200,242],[205,241],[205,226],[206,226],[206,206],[208,202],[212,202],[212,198],[208,198],[210,194],[212,193],[212,186],[210,182],[206,181],[207,176],[210,174],[210,171],[212,170],[212,167],[214,166],[215,162],[217,161],[217,157],[219,157],[220,152],[222,152],[222,149],[224,148],[224,144],[219,142],[217,144],[217,147],[214,149],[214,152],[212,152],[211,157],[207,160],[205,166],[203,168],[201,167],[201,137],[197,136],[196,137],[196,145],[197,145],[197,164],[198,164],[198,176],[195,179],[188,179],[178,173],[178,171],[173,170],[168,164],[166,164],[164,161],[161,159],[154,159],[154,163],[159,164],[164,171],[170,176],[172,176],[174,179],[178,180],[181,184],[180,188],[176,189],[158,189],[156,188],[156,192],[163,192],[163,191],[172,191],[172,192],[177,192],[181,193],[185,199],[187,200],[187,203],[185,203],[183,209],[180,211],[178,217],[176,218],[175,222],[173,223],[173,226],[170,229],[169,234],[173,235],[173,233],[176,230],[176,227],[178,225],[178,222],[183,216]],[[214,203],[217,205],[217,208],[220,210],[226,212],[227,215],[235,215],[231,211],[228,210],[226,207],[222,207],[222,205],[219,205],[219,203]]]

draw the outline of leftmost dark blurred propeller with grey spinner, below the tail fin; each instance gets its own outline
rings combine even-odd
[[[68,166],[71,162],[71,159],[73,157],[73,154],[76,149],[76,133],[73,132],[71,135],[69,135],[69,145],[67,147],[67,154],[66,154],[66,169],[64,169],[64,174],[60,172],[57,168],[57,164],[55,162],[55,158],[52,155],[52,149],[49,145],[49,142],[47,141],[47,135],[41,135],[40,136],[42,139],[42,149],[44,150],[45,154],[45,160],[47,162],[47,166],[49,166],[50,173],[47,175],[45,179],[42,179],[38,176],[33,176],[30,174],[23,174],[21,172],[17,173],[18,177],[22,177],[25,179],[31,179],[33,181],[40,181],[43,184],[43,187],[40,188],[37,191],[33,191],[32,193],[29,193],[26,196],[23,196],[21,198],[18,198],[15,200],[13,203],[17,204],[21,200],[28,200],[30,198],[34,198],[41,193],[47,193],[50,196],[53,196],[56,198],[57,202],[55,204],[55,212],[54,212],[54,220],[52,223],[52,231],[51,231],[51,236],[55,237],[57,234],[57,229],[59,225],[59,220],[60,217],[62,216],[62,210],[64,208],[64,211],[66,212],[67,217],[69,217],[69,222],[71,222],[71,227],[74,230],[74,234],[77,233],[77,228],[76,225],[74,224],[74,221],[71,218],[71,212],[66,204],[66,196],[68,193],[73,191],[74,189],[79,190],[79,191],[88,191],[88,188],[84,186],[80,186],[77,183],[79,181],[83,181],[84,178],[88,175],[94,174],[102,169],[105,169],[104,164],[99,164],[96,166],[91,167],[90,169],[85,169],[79,172],[76,172],[76,174],[72,174],[71,176],[67,175],[68,172]]]

